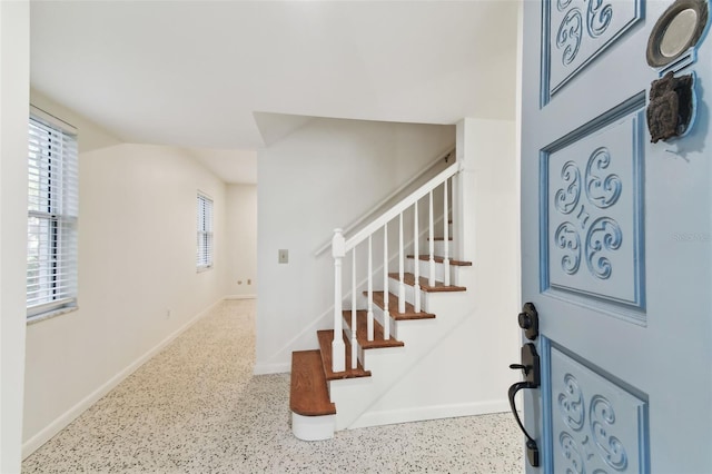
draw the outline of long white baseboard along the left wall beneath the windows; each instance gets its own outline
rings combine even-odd
[[[69,408],[62,415],[57,417],[52,423],[47,425],[43,429],[37,433],[34,436],[30,437],[28,441],[22,443],[22,458],[27,458],[30,454],[34,453],[40,446],[47,443],[52,436],[57,433],[66,428],[71,422],[77,419],[79,415],[86,412],[89,407],[91,407],[95,403],[97,403],[101,397],[108,394],[112,388],[119,385],[126,377],[131,375],[137,368],[148,362],[151,357],[158,354],[164,347],[170,344],[176,337],[180,336],[186,329],[196,324],[200,318],[208,315],[216,306],[222,303],[225,298],[220,298],[216,303],[208,306],[206,309],[198,313],[191,319],[189,319],[186,324],[180,326],[178,329],[172,332],[168,337],[158,343],[154,348],[149,349],[146,354],[134,361],[121,372],[116,374],[109,381],[107,381],[99,388],[90,393],[75,406]]]

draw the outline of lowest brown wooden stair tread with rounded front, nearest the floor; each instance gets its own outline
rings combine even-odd
[[[304,416],[336,414],[336,405],[329,399],[322,368],[322,355],[317,349],[291,353],[289,409]]]

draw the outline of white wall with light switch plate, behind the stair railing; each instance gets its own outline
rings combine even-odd
[[[291,352],[332,327],[333,259],[315,250],[454,139],[452,126],[314,119],[259,151],[256,373],[287,372]]]

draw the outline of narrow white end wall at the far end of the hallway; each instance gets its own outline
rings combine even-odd
[[[257,186],[229,185],[227,216],[227,295],[257,295]]]

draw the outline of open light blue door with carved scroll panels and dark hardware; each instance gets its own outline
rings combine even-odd
[[[527,472],[712,473],[708,1],[523,3]]]

